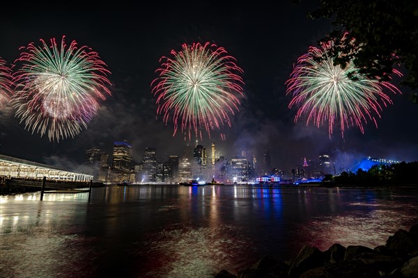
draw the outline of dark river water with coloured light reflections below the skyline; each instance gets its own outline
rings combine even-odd
[[[384,245],[418,223],[418,189],[107,186],[0,208],[0,277],[212,278],[303,245]]]

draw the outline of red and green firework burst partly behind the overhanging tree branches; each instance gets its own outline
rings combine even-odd
[[[286,81],[286,95],[293,94],[288,108],[298,107],[295,122],[307,116],[307,125],[312,122],[319,127],[327,123],[330,138],[336,121],[342,138],[349,126],[357,126],[364,133],[363,124],[372,121],[377,128],[379,112],[392,104],[384,90],[394,94],[401,91],[387,81],[379,82],[359,74],[351,60],[345,68],[334,65],[334,59],[327,53],[331,46],[332,42],[322,44],[321,48],[310,47],[307,54],[298,58]],[[397,70],[394,74],[402,75]]]

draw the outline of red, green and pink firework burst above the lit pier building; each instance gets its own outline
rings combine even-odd
[[[12,98],[15,116],[32,133],[45,133],[51,141],[74,138],[87,129],[87,123],[98,111],[99,99],[111,95],[107,85],[106,64],[90,48],[77,47],[73,40],[61,45],[52,38],[48,46],[30,43],[22,47],[14,74],[16,91]]]

